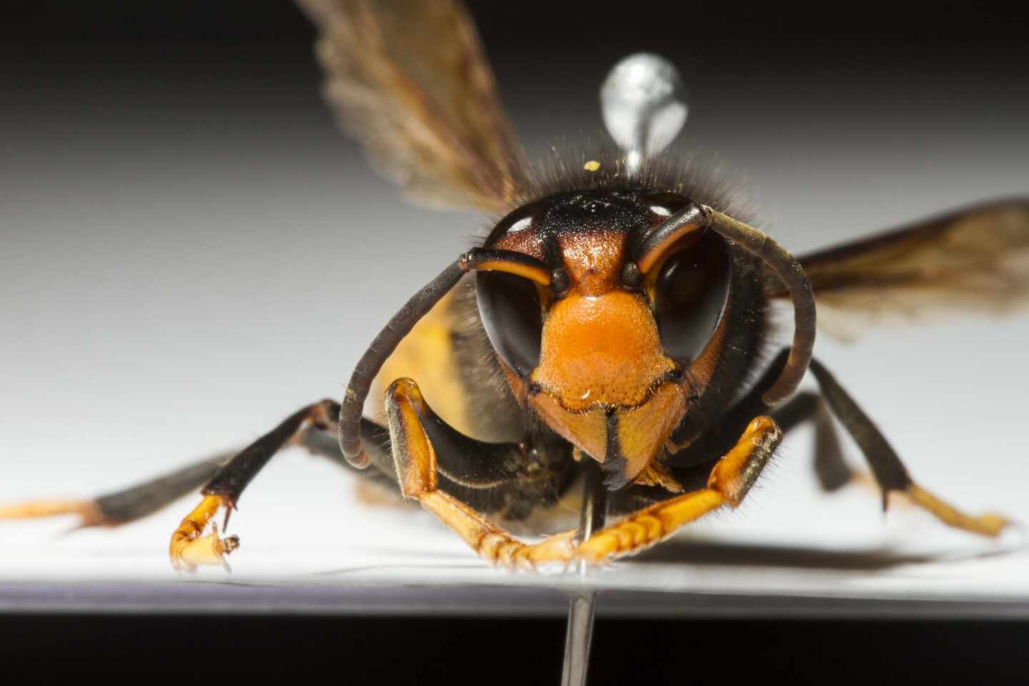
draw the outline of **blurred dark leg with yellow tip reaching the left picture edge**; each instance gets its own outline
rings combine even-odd
[[[82,527],[116,527],[145,517],[203,485],[236,455],[221,453],[136,485],[83,500],[37,500],[0,507],[0,519],[77,514]]]

